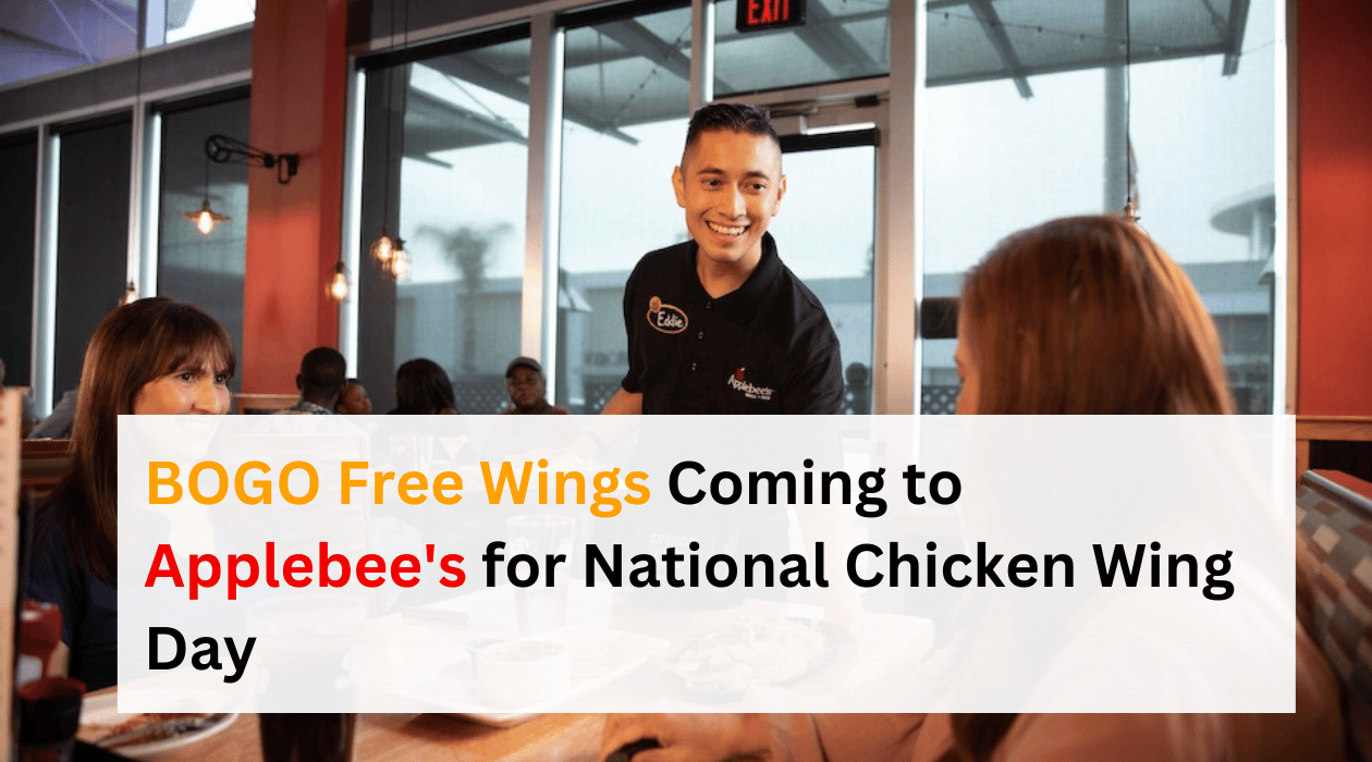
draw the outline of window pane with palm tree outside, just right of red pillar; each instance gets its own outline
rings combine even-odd
[[[498,413],[520,354],[530,42],[520,29],[460,44],[366,81],[364,238],[384,218],[409,256],[398,281],[361,278],[361,376],[383,411],[395,367],[428,358],[458,408]]]

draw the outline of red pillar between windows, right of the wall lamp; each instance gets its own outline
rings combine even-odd
[[[346,32],[346,0],[257,5],[248,143],[296,152],[300,167],[288,185],[248,173],[244,392],[292,392],[300,356],[338,345],[338,306],[324,285],[339,258]]]

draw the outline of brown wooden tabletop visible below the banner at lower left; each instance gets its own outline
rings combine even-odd
[[[106,688],[92,693],[113,693]],[[590,762],[600,758],[602,714],[543,714],[494,728],[443,714],[359,714],[357,762]],[[200,743],[148,757],[155,762],[259,762],[258,715],[243,714]]]

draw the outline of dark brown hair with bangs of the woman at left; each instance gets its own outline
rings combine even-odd
[[[49,504],[70,510],[52,518],[66,525],[71,558],[110,584],[117,581],[119,415],[133,414],[144,385],[193,358],[207,358],[215,373],[235,371],[224,328],[199,307],[165,297],[114,310],[86,345],[71,425],[71,471]]]

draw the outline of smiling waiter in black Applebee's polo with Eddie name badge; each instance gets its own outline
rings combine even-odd
[[[672,188],[691,240],[628,277],[628,373],[602,413],[838,413],[838,337],[767,233],[786,195],[767,116],[729,103],[696,111]]]

